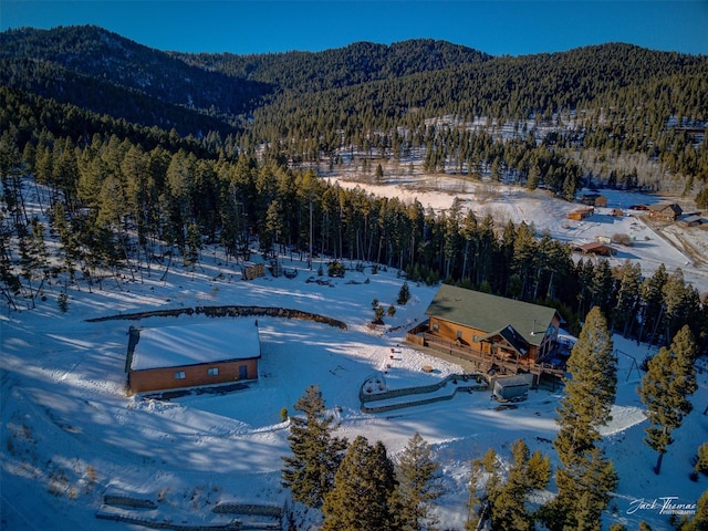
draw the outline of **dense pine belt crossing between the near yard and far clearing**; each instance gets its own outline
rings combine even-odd
[[[445,280],[546,303],[573,332],[579,316],[596,305],[615,330],[637,341],[664,344],[689,324],[701,348],[708,344],[708,305],[680,270],[660,267],[647,275],[638,263],[613,269],[605,260],[574,261],[569,246],[533,226],[478,216],[458,200],[434,211],[417,200],[330,185],[277,154],[257,158],[244,150],[229,159],[196,140],[126,129],[108,117],[93,135],[92,123],[84,123],[76,137],[56,136],[41,121],[66,133],[71,127],[59,124],[71,124],[74,113],[63,115],[65,107],[51,103],[38,110],[28,102],[41,100],[1,94],[8,103],[0,137],[1,258],[11,306],[19,306],[18,293],[33,300],[58,269],[69,281],[91,285],[100,271],[149,270],[173,257],[194,268],[205,244],[243,260],[257,239],[267,256],[312,250],[393,267],[414,281]],[[537,152],[529,146],[518,153]],[[27,209],[30,187],[48,226]],[[59,241],[52,260],[49,238]]]

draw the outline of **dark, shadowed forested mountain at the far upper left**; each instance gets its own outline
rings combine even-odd
[[[180,134],[233,128],[271,91],[96,27],[0,33],[0,83]]]

